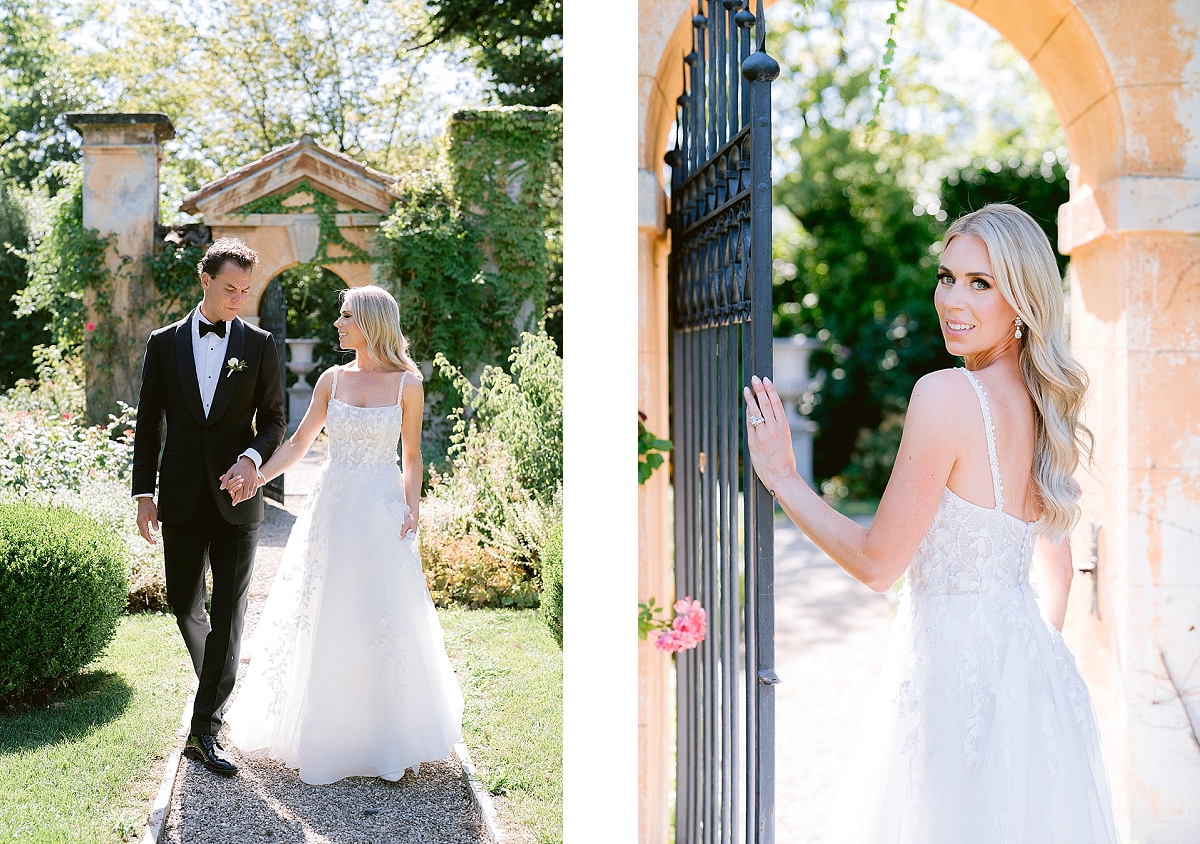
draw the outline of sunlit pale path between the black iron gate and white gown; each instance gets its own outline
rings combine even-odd
[[[863,523],[870,523],[863,520]],[[775,522],[775,840],[817,844],[887,651],[892,599]]]

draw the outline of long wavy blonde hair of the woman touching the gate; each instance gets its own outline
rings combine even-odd
[[[1081,457],[1091,462],[1094,444],[1079,420],[1088,379],[1063,336],[1062,276],[1045,232],[1015,205],[985,205],[959,217],[946,231],[943,249],[959,235],[984,243],[1001,295],[1025,323],[1020,365],[1036,408],[1033,490],[1042,507],[1039,529],[1058,543],[1079,521],[1075,469]]]

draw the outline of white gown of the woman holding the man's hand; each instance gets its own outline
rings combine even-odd
[[[403,391],[403,376],[401,393]],[[462,693],[446,659],[408,515],[389,407],[341,402],[329,456],[296,517],[227,720],[248,755],[310,784],[396,780],[460,740]]]

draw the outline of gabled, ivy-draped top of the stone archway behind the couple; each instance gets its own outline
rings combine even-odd
[[[326,149],[305,134],[184,198],[214,240],[240,238],[258,252],[248,313],[268,282],[296,264],[318,264],[349,287],[377,276],[371,240],[391,211],[397,178]]]

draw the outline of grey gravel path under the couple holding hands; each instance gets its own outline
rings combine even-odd
[[[295,514],[325,459],[324,438],[288,472],[286,507],[266,502],[258,540],[254,575],[246,609],[250,638],[278,570]],[[242,662],[238,684],[248,662]],[[234,689],[234,696],[238,688]],[[482,825],[451,755],[422,765],[419,776],[406,773],[397,783],[374,777],[349,777],[331,785],[306,785],[282,762],[246,759],[227,741],[221,743],[238,762],[236,777],[209,772],[186,756],[180,760],[175,792],[161,840],[173,844],[479,844]]]

